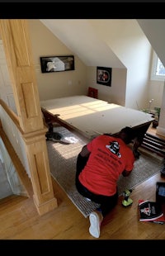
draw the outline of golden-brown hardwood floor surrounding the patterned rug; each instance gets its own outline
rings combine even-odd
[[[156,182],[165,182],[160,173],[135,187],[131,193],[132,206],[118,205],[103,220],[102,239],[165,239],[164,225],[139,221],[138,200],[155,201]],[[52,179],[58,208],[39,216],[31,197],[7,197],[0,200],[0,239],[87,239],[97,240],[89,234],[89,220]]]

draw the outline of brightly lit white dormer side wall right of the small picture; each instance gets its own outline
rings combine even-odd
[[[143,108],[148,102],[151,45],[139,24],[136,20],[91,22],[127,69],[125,107]]]

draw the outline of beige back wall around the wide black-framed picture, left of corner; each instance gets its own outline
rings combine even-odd
[[[40,100],[87,94],[87,67],[39,20],[29,20]],[[74,55],[75,70],[41,73],[40,56]]]

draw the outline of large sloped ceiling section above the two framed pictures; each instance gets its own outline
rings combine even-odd
[[[125,65],[94,31],[89,20],[40,20],[87,66],[124,69]]]

